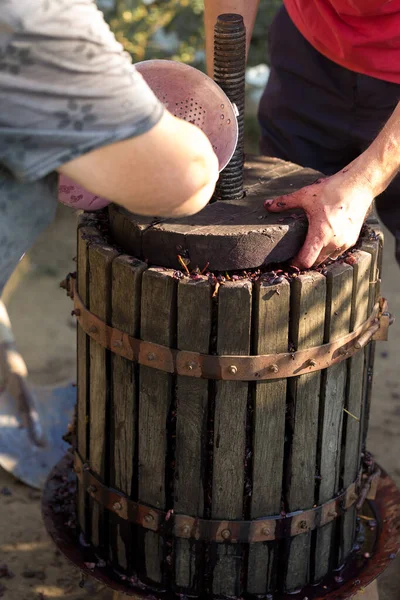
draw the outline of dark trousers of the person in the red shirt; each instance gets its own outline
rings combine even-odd
[[[282,7],[269,32],[271,73],[259,108],[261,152],[332,175],[375,139],[400,100],[400,85],[325,58]],[[396,237],[400,263],[400,176],[376,199]]]

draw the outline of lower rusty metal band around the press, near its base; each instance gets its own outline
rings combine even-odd
[[[79,485],[99,504],[121,519],[161,534],[177,538],[213,542],[253,543],[295,537],[323,527],[352,506],[360,508],[365,499],[373,500],[380,471],[360,474],[344,492],[310,510],[265,517],[254,521],[217,521],[174,514],[134,502],[128,496],[104,485],[75,451],[74,470]],[[361,503],[361,504],[360,504]]]

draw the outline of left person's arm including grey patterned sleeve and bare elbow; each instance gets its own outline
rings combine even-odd
[[[1,82],[0,125],[13,139],[9,149],[3,133],[1,162],[22,181],[57,170],[144,215],[201,210],[218,177],[207,137],[164,110],[94,2],[67,4],[18,0],[1,14],[21,28],[5,60],[14,44],[31,49]]]

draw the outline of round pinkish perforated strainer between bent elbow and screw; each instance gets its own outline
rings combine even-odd
[[[238,141],[237,110],[226,94],[210,77],[183,63],[146,60],[135,66],[170,113],[204,131],[222,171]]]

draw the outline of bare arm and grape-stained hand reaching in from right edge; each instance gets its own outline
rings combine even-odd
[[[371,146],[345,169],[265,203],[271,212],[302,208],[307,215],[307,238],[294,264],[310,268],[353,246],[374,198],[399,172],[400,103]]]

